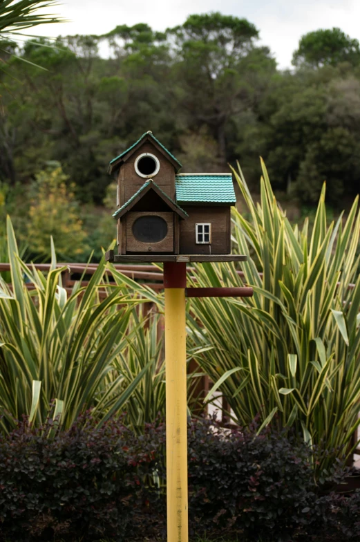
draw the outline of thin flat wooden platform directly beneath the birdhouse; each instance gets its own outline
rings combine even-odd
[[[244,254],[114,254],[113,250],[105,253],[106,261],[114,263],[177,261],[177,262],[205,262],[205,261],[247,261]]]

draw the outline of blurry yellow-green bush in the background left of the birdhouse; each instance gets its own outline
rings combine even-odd
[[[99,262],[103,249],[107,250],[115,239],[113,185],[106,191],[104,208],[79,205],[74,185],[69,183],[59,162],[48,163],[29,185],[16,183],[9,187],[0,182],[0,261],[8,261],[5,241],[9,215],[21,253],[26,249],[28,259],[50,261],[52,236],[61,261],[86,262],[91,258]]]

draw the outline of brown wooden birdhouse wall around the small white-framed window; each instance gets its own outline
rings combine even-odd
[[[180,254],[230,254],[230,207],[182,205],[189,217],[180,221]],[[196,243],[196,224],[211,224],[211,243]]]

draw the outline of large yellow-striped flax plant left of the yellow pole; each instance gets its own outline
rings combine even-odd
[[[141,337],[134,318],[142,300],[126,283],[106,282],[104,261],[86,288],[75,283],[69,294],[54,248],[45,275],[21,261],[10,219],[7,226],[12,280],[10,287],[0,277],[1,429],[21,415],[40,425],[53,400],[63,428],[87,409],[102,423],[124,409],[154,363],[151,351],[129,378],[124,352]],[[100,288],[108,294],[103,300]]]

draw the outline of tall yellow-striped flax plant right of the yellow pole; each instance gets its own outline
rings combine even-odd
[[[192,299],[191,347],[222,391],[234,420],[294,427],[328,451],[321,467],[349,454],[360,420],[359,199],[347,218],[326,220],[325,185],[314,227],[292,225],[276,202],[262,162],[260,203],[240,168],[247,206],[233,212],[234,252],[247,254],[243,277],[232,263],[199,265],[193,286],[254,288],[249,299]],[[350,284],[352,287],[349,287]],[[201,325],[200,325],[201,323]]]

